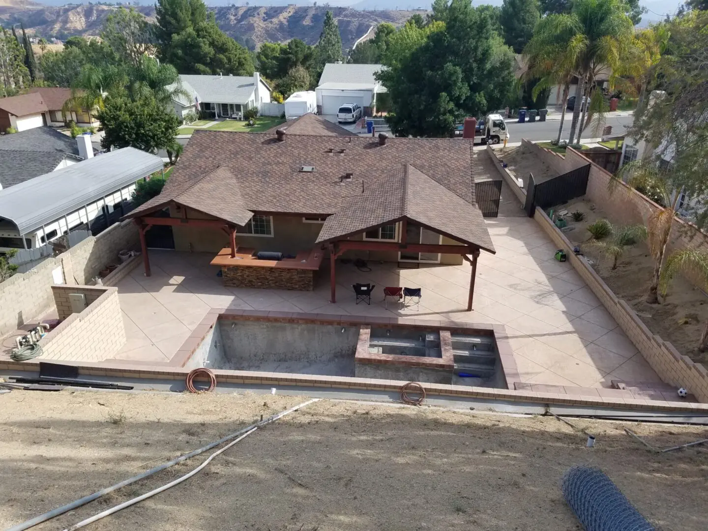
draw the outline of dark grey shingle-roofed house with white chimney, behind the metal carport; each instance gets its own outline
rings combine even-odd
[[[91,142],[86,146],[83,135],[73,139],[51,127],[35,127],[13,135],[2,135],[0,189],[75,164],[90,156],[93,156]]]

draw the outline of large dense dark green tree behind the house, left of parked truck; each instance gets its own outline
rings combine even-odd
[[[436,4],[435,29],[421,35],[406,24],[399,33],[413,47],[401,50],[402,39],[392,39],[386,68],[377,74],[391,95],[389,123],[401,135],[449,136],[464,116],[501,107],[514,86],[512,52],[488,13],[470,0]]]

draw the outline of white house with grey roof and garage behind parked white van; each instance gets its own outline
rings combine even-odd
[[[343,103],[358,103],[364,108],[364,115],[372,115],[377,94],[387,92],[374,79],[374,74],[382,68],[381,64],[325,64],[315,89],[317,113],[336,115]]]

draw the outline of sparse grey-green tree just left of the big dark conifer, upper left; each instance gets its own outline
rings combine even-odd
[[[121,7],[106,17],[101,38],[126,62],[137,64],[140,57],[154,50],[153,25],[135,11]]]

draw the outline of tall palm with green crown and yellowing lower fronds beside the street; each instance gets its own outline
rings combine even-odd
[[[560,46],[564,64],[571,65],[578,77],[569,141],[573,143],[578,132],[580,142],[578,121],[581,107],[587,108],[582,105],[583,98],[600,71],[609,68],[614,76],[619,70],[623,52],[632,40],[632,21],[619,0],[576,0],[571,13],[546,19],[547,23],[537,26],[543,32],[539,40]]]

